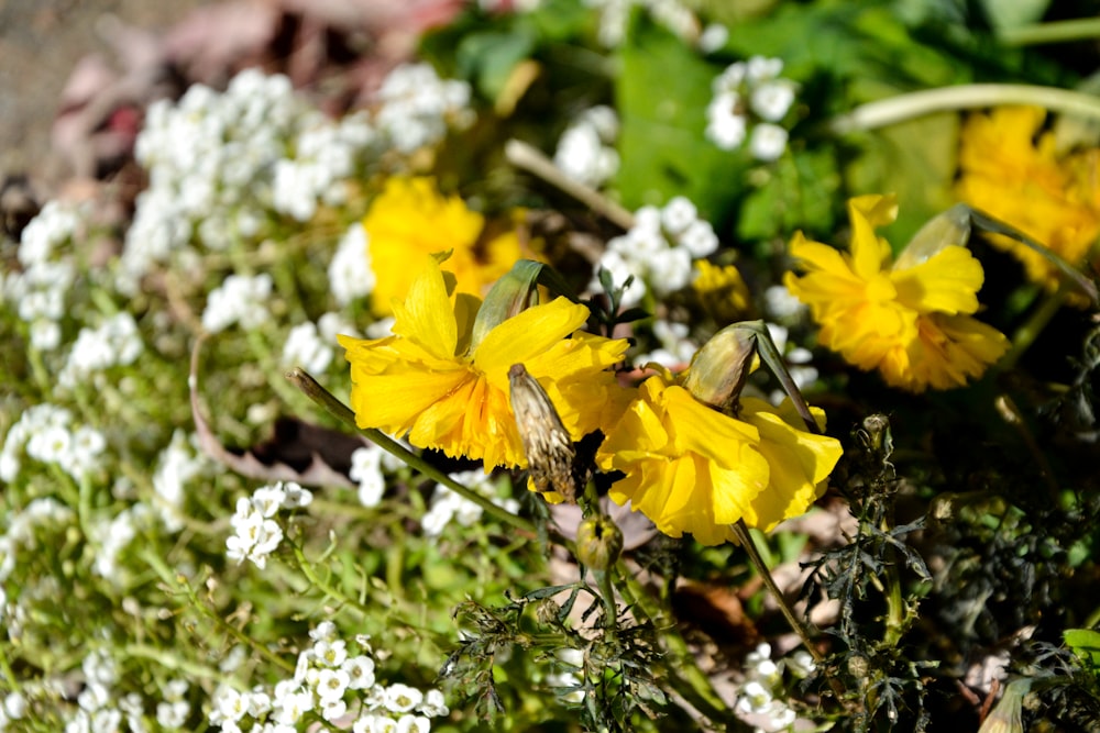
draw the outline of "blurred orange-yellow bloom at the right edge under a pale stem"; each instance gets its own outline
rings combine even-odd
[[[1045,118],[1038,107],[970,115],[963,125],[956,192],[1077,266],[1100,236],[1100,149],[1059,154],[1054,134],[1040,133]],[[1057,286],[1048,259],[1008,237],[993,241],[1024,264],[1031,279]]]

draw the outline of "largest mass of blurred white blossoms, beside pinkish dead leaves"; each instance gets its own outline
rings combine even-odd
[[[127,233],[118,287],[136,292],[156,263],[226,249],[263,236],[273,219],[310,220],[339,206],[344,182],[387,149],[437,144],[469,122],[470,87],[440,80],[428,65],[399,66],[373,113],[332,121],[294,93],[289,79],[246,69],[224,93],[191,86],[173,104],[150,105],[134,146],[148,169]]]

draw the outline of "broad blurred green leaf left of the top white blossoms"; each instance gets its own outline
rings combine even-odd
[[[741,156],[704,135],[711,81],[722,69],[645,18],[627,38],[615,90],[623,162],[615,188],[630,209],[686,196],[719,229],[744,176]]]

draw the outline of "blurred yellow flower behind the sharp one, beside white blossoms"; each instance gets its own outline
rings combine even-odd
[[[482,242],[485,218],[457,196],[443,197],[431,178],[393,177],[363,219],[374,270],[371,302],[388,315],[429,256],[451,252],[447,260],[458,291],[475,296],[508,271],[522,255],[515,229]]]

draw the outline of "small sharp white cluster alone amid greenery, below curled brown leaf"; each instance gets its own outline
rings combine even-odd
[[[307,507],[314,495],[294,481],[262,486],[251,497],[237,500],[237,511],[229,520],[235,534],[226,540],[226,557],[240,565],[245,559],[258,568],[283,542],[283,527],[273,518],[279,509]]]

